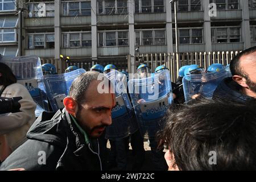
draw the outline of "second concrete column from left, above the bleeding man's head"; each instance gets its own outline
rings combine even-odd
[[[92,27],[92,60],[96,60],[97,59],[97,1],[93,0],[90,2],[91,3],[91,27]],[[94,61],[93,61],[94,64]]]

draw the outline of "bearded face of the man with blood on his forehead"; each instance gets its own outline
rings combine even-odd
[[[82,129],[92,138],[98,138],[106,126],[112,124],[111,110],[115,106],[115,95],[100,94],[97,90],[100,81],[92,81],[85,93],[85,102],[79,105],[76,119]]]

